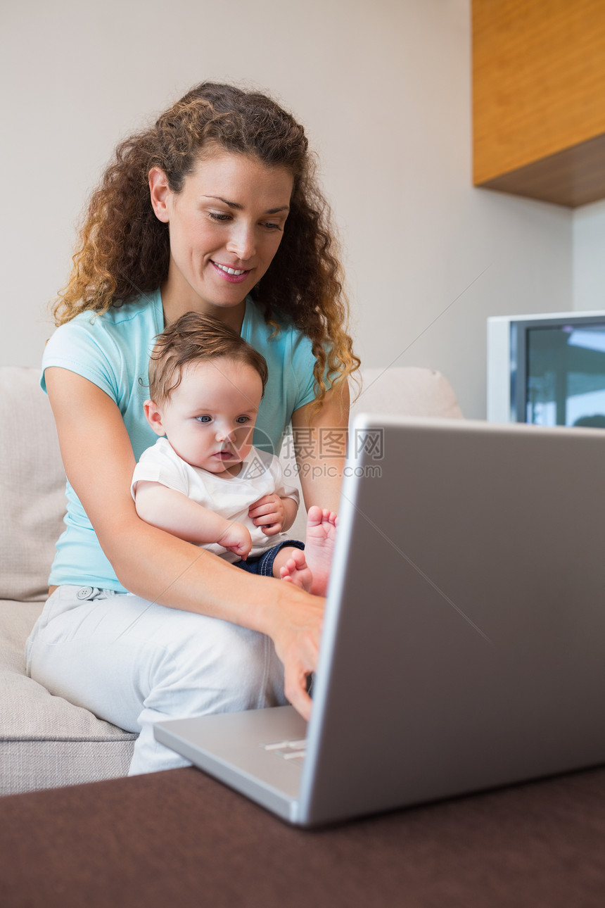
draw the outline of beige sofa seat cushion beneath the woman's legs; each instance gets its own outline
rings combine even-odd
[[[24,642],[42,610],[0,602],[0,795],[126,775],[136,735],[26,676]]]

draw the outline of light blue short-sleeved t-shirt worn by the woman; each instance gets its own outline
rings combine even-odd
[[[281,331],[267,325],[254,302],[247,298],[241,336],[267,360],[268,382],[260,402],[254,444],[278,454],[292,413],[315,399],[311,341],[290,321],[275,319]],[[61,366],[97,385],[116,402],[132,442],[134,456],[157,440],[143,412],[148,393],[148,363],[155,337],[163,331],[160,290],[102,315],[83,312],[54,332],[44,349],[44,370]],[[100,437],[100,446],[107,439]],[[49,584],[74,584],[126,592],[102,552],[90,520],[73,491],[66,487],[65,530]]]

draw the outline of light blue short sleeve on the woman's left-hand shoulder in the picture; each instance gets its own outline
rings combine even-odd
[[[45,391],[44,371],[49,366],[60,366],[92,381],[117,403],[121,360],[120,350],[102,321],[86,312],[61,325],[47,341],[40,384]]]

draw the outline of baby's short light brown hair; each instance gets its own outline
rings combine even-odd
[[[156,404],[166,403],[181,384],[185,366],[220,357],[251,366],[259,373],[265,393],[268,379],[265,357],[219,319],[185,312],[156,338],[149,361],[150,399]]]

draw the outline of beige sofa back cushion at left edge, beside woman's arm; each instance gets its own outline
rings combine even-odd
[[[54,543],[63,531],[65,474],[40,371],[0,367],[0,598],[48,593]]]

